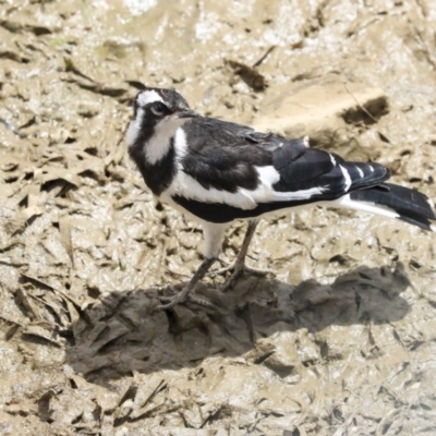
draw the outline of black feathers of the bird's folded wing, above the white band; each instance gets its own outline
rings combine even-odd
[[[182,159],[183,170],[205,189],[255,190],[259,183],[255,167],[274,166],[280,174],[274,185],[277,192],[319,187],[323,194],[311,197],[319,201],[374,186],[389,177],[380,165],[346,162],[335,154],[307,148],[302,138],[286,140],[235,123],[201,118],[184,130],[190,153]]]

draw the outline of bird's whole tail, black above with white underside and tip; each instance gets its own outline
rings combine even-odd
[[[432,201],[421,192],[392,183],[353,191],[332,202],[339,207],[398,218],[425,230],[436,231]]]

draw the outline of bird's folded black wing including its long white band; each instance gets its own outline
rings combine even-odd
[[[292,207],[336,199],[389,177],[380,165],[347,162],[308,148],[304,140],[206,120],[185,130],[189,149],[170,190],[172,196],[242,210],[270,203]]]

